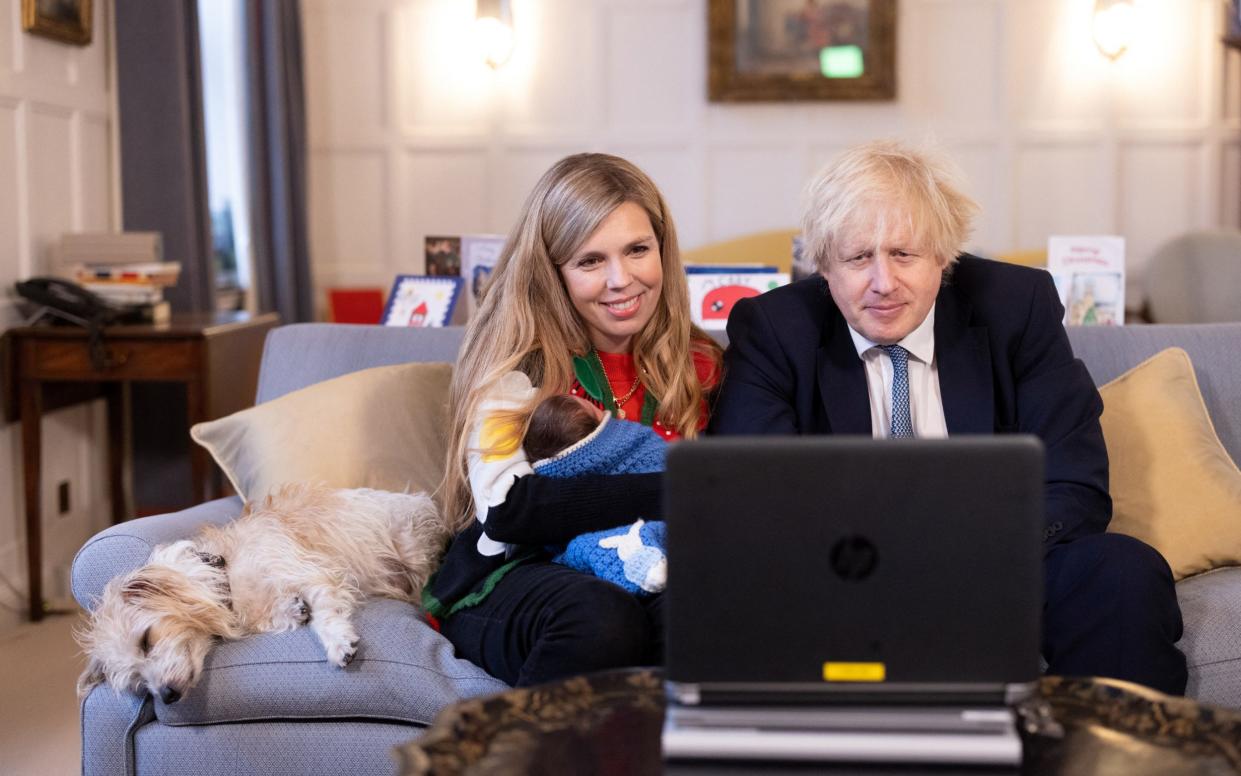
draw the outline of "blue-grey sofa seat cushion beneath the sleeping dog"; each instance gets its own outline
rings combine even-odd
[[[383,719],[427,725],[462,698],[508,689],[436,633],[408,603],[377,598],[354,616],[360,637],[347,668],[328,663],[309,627],[223,642],[202,678],[174,704],[155,702],[166,725],[269,719]]]

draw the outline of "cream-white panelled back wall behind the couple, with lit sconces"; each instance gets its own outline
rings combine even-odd
[[[391,277],[421,268],[424,235],[506,232],[537,176],[581,150],[647,169],[686,247],[794,226],[809,175],[877,137],[959,163],[983,251],[1119,232],[1139,284],[1165,237],[1241,223],[1241,55],[1219,42],[1217,0],[1144,0],[1117,62],[1091,40],[1092,0],[898,6],[895,102],[714,104],[706,0],[514,0],[513,58],[494,72],[470,48],[469,0],[304,0],[316,169],[365,148],[391,171],[338,175],[346,189],[313,191],[316,219],[393,220],[375,226],[388,252],[364,264],[316,230],[315,267],[333,283],[355,266]]]

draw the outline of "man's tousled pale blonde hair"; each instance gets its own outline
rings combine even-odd
[[[946,159],[895,140],[851,148],[825,166],[805,190],[802,236],[819,272],[839,258],[843,242],[874,227],[875,242],[906,221],[910,238],[941,266],[957,261],[969,237],[978,205],[961,191],[959,173]]]

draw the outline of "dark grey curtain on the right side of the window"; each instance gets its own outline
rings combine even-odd
[[[262,310],[314,319],[307,233],[307,120],[298,0],[248,0],[251,240]]]

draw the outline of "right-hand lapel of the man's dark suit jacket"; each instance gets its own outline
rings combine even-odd
[[[939,394],[948,433],[992,433],[995,396],[987,327],[969,325],[969,303],[957,294],[951,278],[939,291],[934,315]]]

